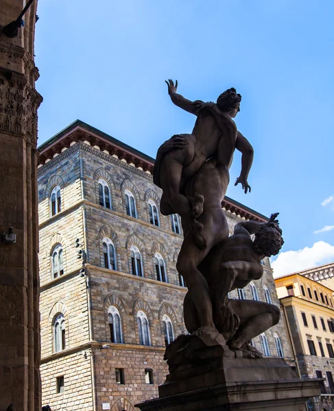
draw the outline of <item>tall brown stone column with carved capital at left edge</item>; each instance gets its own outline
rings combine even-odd
[[[23,0],[0,1],[0,30]],[[37,0],[14,38],[0,35],[0,411],[39,411],[40,314],[34,33]],[[13,227],[16,242],[4,242]]]

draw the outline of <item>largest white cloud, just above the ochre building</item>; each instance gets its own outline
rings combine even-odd
[[[311,269],[314,266],[326,264],[334,260],[334,245],[318,241],[312,247],[305,247],[298,251],[279,253],[272,262],[274,277],[296,273],[296,271]]]

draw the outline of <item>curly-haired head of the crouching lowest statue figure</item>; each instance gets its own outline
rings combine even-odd
[[[257,254],[270,257],[276,256],[283,244],[281,228],[275,223],[267,223],[255,233],[253,249]]]

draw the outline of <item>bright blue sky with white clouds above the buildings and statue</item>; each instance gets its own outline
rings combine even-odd
[[[333,13],[332,0],[39,1],[39,144],[80,119],[154,157],[195,122],[165,79],[204,101],[234,86],[255,157],[252,192],[228,196],[281,213],[276,275],[333,261]],[[236,153],[231,183],[240,166]]]

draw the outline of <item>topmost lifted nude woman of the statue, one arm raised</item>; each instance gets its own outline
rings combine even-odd
[[[167,86],[171,101],[195,114],[197,119],[192,134],[172,137],[179,145],[177,149],[166,153],[162,146],[158,150],[154,164],[154,183],[163,189],[160,211],[163,215],[179,214],[183,223],[191,228],[196,245],[204,249],[206,238],[198,217],[202,214],[205,196],[202,192],[184,195],[184,183],[214,155],[220,163],[230,167],[233,152],[242,145],[244,139],[232,121],[240,110],[241,95],[237,94],[235,88],[230,88],[218,97],[217,103],[203,103],[190,101],[177,94],[178,82],[174,86],[174,82],[169,80]],[[251,164],[252,159],[249,158],[236,183],[241,182],[245,192],[248,188],[250,190],[247,176]]]

